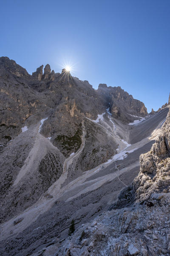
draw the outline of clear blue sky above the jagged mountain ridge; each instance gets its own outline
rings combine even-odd
[[[121,86],[150,112],[170,92],[170,0],[1,0],[0,56]]]

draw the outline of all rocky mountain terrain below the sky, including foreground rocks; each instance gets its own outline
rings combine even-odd
[[[0,255],[170,255],[168,104],[1,57]]]

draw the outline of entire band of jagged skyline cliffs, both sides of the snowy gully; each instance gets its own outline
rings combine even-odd
[[[64,150],[63,141],[57,138],[65,135],[72,138],[84,117],[95,120],[98,114],[106,112],[106,107],[110,107],[113,117],[124,123],[133,121],[131,115],[147,114],[142,102],[119,87],[99,85],[95,91],[88,81],[71,77],[65,70],[55,74],[48,64],[44,73],[41,65],[31,76],[7,57],[0,58],[0,92],[1,144],[20,134],[27,119],[35,124],[48,116],[42,133],[52,137],[52,143],[59,146],[65,156],[77,146]]]

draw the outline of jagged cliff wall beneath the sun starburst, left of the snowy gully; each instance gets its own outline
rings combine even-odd
[[[85,88],[86,84],[78,79],[55,74],[54,71],[51,72],[49,65],[45,66],[43,74],[42,68],[43,65],[30,76],[13,60],[0,58],[1,143],[18,135],[26,119],[33,115],[34,123],[40,120],[41,115],[51,115],[51,120],[48,119],[48,133],[49,130],[51,133],[55,130],[57,134],[63,135],[67,132],[68,136],[73,136],[82,121],[82,115],[94,119],[98,114],[96,106],[99,112],[104,110],[92,86]],[[89,95],[93,100],[89,100]],[[57,116],[55,113],[58,113]],[[54,120],[65,115],[67,120],[63,118],[62,125],[59,124],[61,120]],[[71,125],[68,129],[69,122]]]

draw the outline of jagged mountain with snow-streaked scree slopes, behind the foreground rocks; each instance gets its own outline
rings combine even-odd
[[[68,247],[71,220],[79,232],[108,209],[137,207],[139,156],[167,124],[169,108],[148,115],[120,87],[94,90],[48,64],[30,75],[7,57],[0,58],[0,92],[2,254],[81,255]],[[151,168],[148,160],[143,165]],[[82,250],[81,241],[71,243]]]

